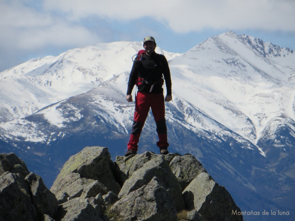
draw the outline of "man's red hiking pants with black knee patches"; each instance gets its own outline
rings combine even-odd
[[[128,150],[137,151],[140,133],[150,108],[152,109],[152,113],[157,125],[157,133],[159,137],[157,146],[159,148],[169,146],[167,142],[167,126],[165,120],[165,103],[163,93],[150,94],[138,92],[135,100],[135,112],[130,140],[127,144]]]

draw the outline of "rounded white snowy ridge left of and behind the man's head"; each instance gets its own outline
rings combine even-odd
[[[95,88],[125,70],[130,71],[132,55],[140,50],[141,44],[97,44],[69,50],[57,57],[32,59],[1,72],[0,122],[31,115],[47,105]],[[178,55],[159,48],[157,52],[168,58]]]

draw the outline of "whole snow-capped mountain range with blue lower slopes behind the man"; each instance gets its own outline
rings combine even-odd
[[[0,152],[15,152],[48,186],[85,146],[123,155],[134,111],[127,81],[140,49],[141,42],[96,44],[1,72]],[[184,54],[156,51],[172,77],[170,152],[196,156],[242,211],[289,211],[282,220],[294,220],[294,51],[234,32]],[[139,152],[158,153],[156,139],[149,115]]]

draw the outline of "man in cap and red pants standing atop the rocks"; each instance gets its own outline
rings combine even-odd
[[[138,92],[135,97],[135,113],[130,140],[127,144],[125,156],[137,154],[138,142],[142,127],[148,116],[150,108],[157,126],[159,141],[157,146],[161,154],[168,154],[167,126],[165,120],[165,103],[172,100],[171,76],[167,59],[164,55],[155,52],[156,42],[151,36],[143,39],[142,53],[133,62],[132,70],[128,81],[126,100],[132,102],[132,90],[137,85]],[[164,99],[164,79],[167,95]]]

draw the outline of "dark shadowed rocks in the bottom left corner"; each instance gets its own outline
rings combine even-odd
[[[42,220],[55,217],[58,201],[41,177],[29,173],[15,154],[0,154],[0,220]]]

